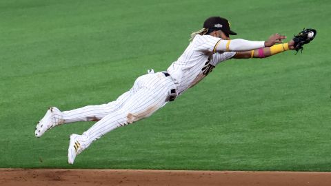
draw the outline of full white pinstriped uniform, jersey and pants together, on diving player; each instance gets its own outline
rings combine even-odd
[[[231,59],[236,52],[214,53],[215,45],[220,40],[209,35],[197,35],[168,68],[170,76],[166,77],[161,72],[145,74],[116,101],[63,112],[64,123],[98,121],[77,137],[81,145],[77,145],[76,149],[86,149],[93,141],[117,127],[152,115],[168,103],[170,90],[177,89],[177,94],[181,94],[199,83],[218,63]]]

